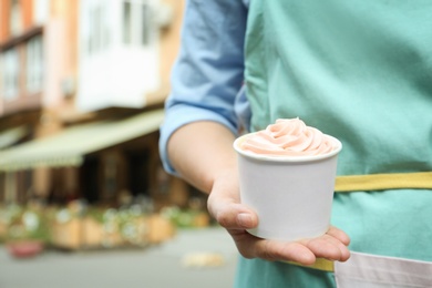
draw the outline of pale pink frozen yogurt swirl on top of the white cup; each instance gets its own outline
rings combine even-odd
[[[297,117],[277,120],[248,136],[241,148],[263,155],[308,156],[327,154],[336,147],[331,137]]]

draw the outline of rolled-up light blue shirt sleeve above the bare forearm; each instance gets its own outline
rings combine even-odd
[[[237,133],[235,103],[244,80],[247,4],[241,0],[188,0],[179,55],[165,102],[160,151],[164,168],[176,174],[166,153],[169,136],[181,126],[214,121]]]

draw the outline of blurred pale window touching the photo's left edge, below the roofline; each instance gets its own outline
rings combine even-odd
[[[12,48],[3,53],[3,95],[11,101],[18,97],[19,58],[17,49]]]

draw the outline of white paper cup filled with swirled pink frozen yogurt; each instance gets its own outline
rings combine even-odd
[[[339,140],[299,119],[279,119],[263,131],[241,135],[233,146],[240,202],[259,217],[250,234],[294,241],[328,230],[342,150]]]

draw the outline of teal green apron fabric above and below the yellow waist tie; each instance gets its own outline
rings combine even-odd
[[[432,171],[432,1],[251,0],[251,130],[299,116],[343,143],[339,175]],[[415,188],[415,189],[413,189]],[[432,191],[335,195],[359,253],[432,261]],[[236,287],[333,287],[332,272],[240,259]]]

